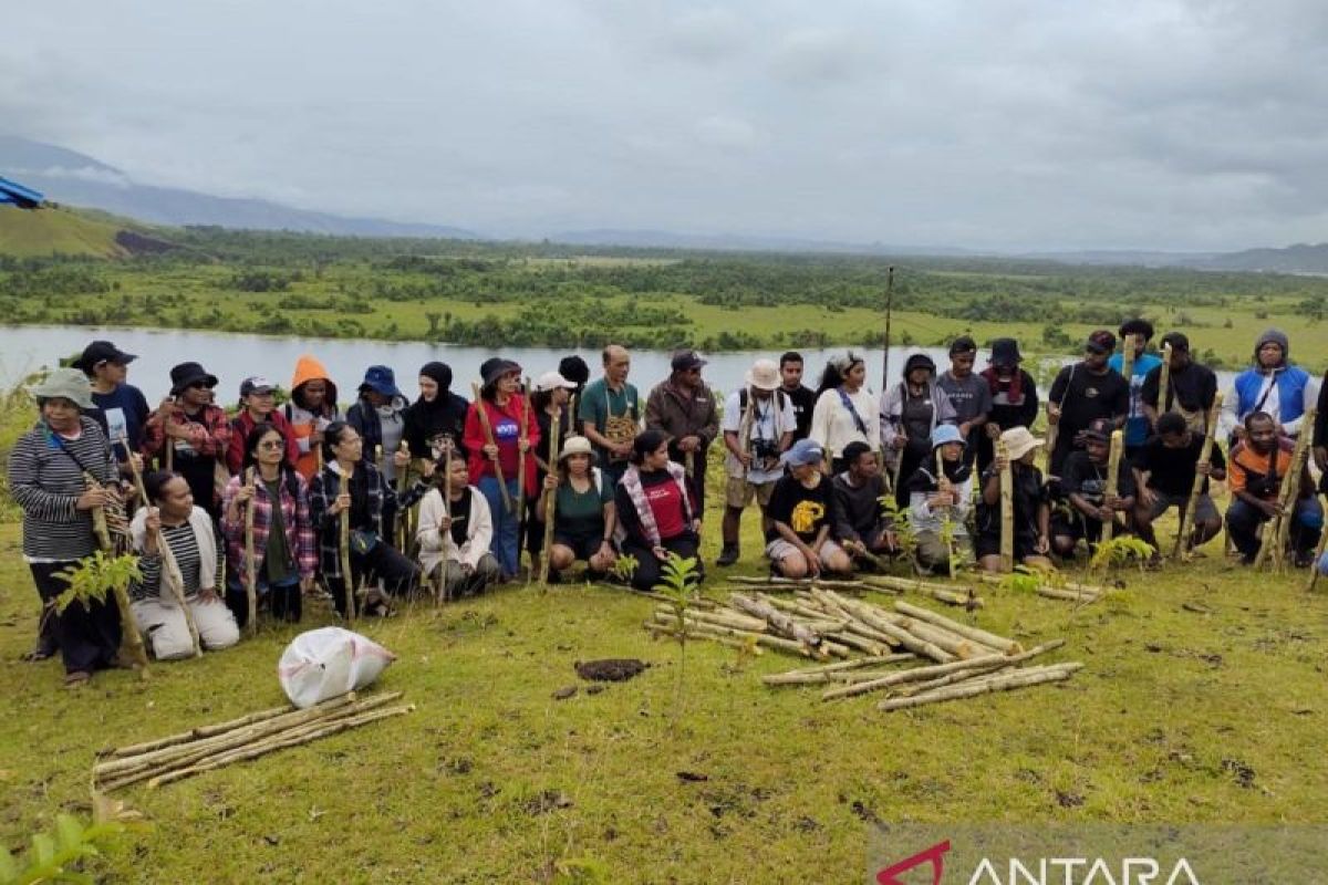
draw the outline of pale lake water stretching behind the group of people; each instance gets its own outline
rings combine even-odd
[[[239,397],[240,381],[250,375],[266,375],[274,383],[288,387],[295,361],[305,353],[317,357],[328,368],[345,403],[371,365],[392,366],[397,373],[397,386],[409,398],[418,394],[416,379],[420,366],[430,360],[441,360],[452,366],[456,381],[453,389],[470,398],[470,381],[478,379],[479,364],[495,356],[515,360],[531,378],[558,368],[559,360],[579,353],[591,368],[591,378],[599,377],[598,350],[555,350],[548,348],[462,348],[422,341],[359,341],[345,338],[268,337],[258,334],[227,334],[220,332],[190,332],[183,329],[106,329],[94,326],[0,326],[0,389],[9,389],[28,373],[42,366],[53,366],[76,354],[96,338],[113,341],[127,353],[138,354],[129,366],[129,381],[155,403],[170,390],[170,368],[186,361],[203,368],[220,379],[218,399],[231,402]],[[843,353],[843,348],[801,350],[806,365],[806,383],[815,386],[826,361]],[[891,374],[898,377],[910,353],[924,350],[944,369],[948,358],[943,349],[891,348]],[[704,377],[721,391],[742,385],[742,377],[753,360],[778,360],[780,350],[703,354],[709,360]],[[872,390],[880,387],[879,349],[865,354],[867,381]],[[985,354],[984,354],[985,358]],[[980,365],[984,365],[980,364]],[[633,350],[629,379],[644,394],[669,374],[669,354],[661,350]]]

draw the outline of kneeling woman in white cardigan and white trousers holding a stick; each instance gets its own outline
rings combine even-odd
[[[218,593],[223,553],[212,517],[194,506],[189,483],[175,474],[149,474],[143,488],[147,507],[141,507],[129,524],[143,577],[130,584],[129,593],[134,621],[153,657],[171,661],[194,654],[185,610],[166,584],[162,544],[179,568],[181,592],[198,628],[199,645],[208,651],[231,647],[240,641],[240,630]]]

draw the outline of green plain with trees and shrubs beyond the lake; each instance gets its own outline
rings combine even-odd
[[[1201,358],[1244,365],[1276,324],[1328,345],[1328,280],[1050,261],[721,253],[161,228],[124,259],[0,257],[13,324],[133,325],[513,346],[705,350],[942,345],[1017,337],[1074,352],[1145,316]]]

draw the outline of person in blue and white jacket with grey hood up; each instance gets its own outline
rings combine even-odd
[[[1291,341],[1282,329],[1268,329],[1254,342],[1254,366],[1236,375],[1222,401],[1222,425],[1231,444],[1244,435],[1244,421],[1256,411],[1272,418],[1278,433],[1295,439],[1305,409],[1319,402],[1319,385],[1291,362]]]

